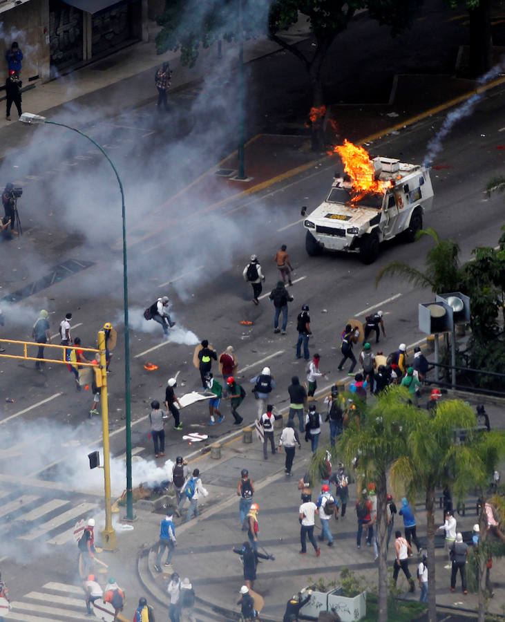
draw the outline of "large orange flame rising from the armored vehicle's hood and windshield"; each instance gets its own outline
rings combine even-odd
[[[351,202],[356,203],[365,194],[382,194],[386,188],[392,187],[390,180],[383,181],[375,178],[374,165],[370,154],[363,147],[358,147],[348,140],[344,144],[334,147],[332,153],[338,153],[342,158],[344,171],[352,180]]]

